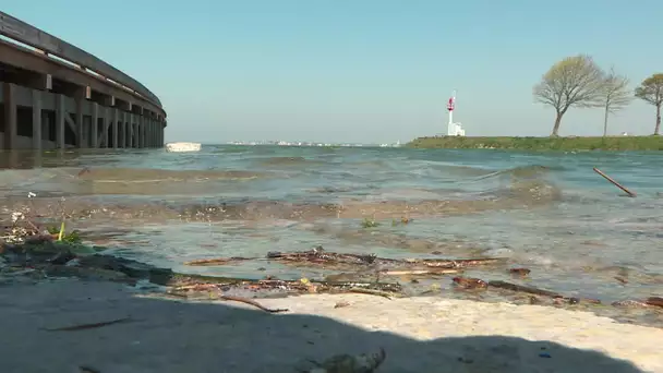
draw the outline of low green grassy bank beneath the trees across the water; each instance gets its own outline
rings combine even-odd
[[[520,149],[520,151],[663,151],[663,136],[613,137],[419,137],[413,148]]]

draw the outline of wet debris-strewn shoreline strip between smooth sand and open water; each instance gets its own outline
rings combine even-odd
[[[588,298],[581,292],[564,292],[531,284],[531,269],[509,265],[508,257],[420,257],[394,258],[364,253],[326,251],[322,245],[308,251],[272,251],[258,256],[202,257],[181,263],[180,267],[155,266],[116,255],[105,246],[82,243],[77,231],[16,238],[21,242],[0,246],[0,284],[39,281],[48,278],[79,278],[121,282],[131,286],[160,287],[170,297],[229,299],[245,301],[310,293],[367,293],[377,297],[438,297],[483,302],[537,304],[574,311],[589,311],[620,323],[660,327],[663,298],[655,292],[619,297],[617,300]],[[14,234],[29,231],[14,229]],[[12,234],[5,239],[12,239]],[[205,274],[185,268],[232,267],[267,260],[291,268],[332,270],[327,276],[275,274],[232,276]],[[478,274],[477,270],[482,270]],[[497,275],[502,272],[502,275]],[[505,273],[507,276],[505,276]],[[493,274],[490,275],[489,274]],[[623,275],[627,276],[627,275]],[[615,277],[622,284],[627,277]],[[643,296],[643,297],[642,297]],[[241,298],[238,300],[237,298]],[[255,302],[250,302],[256,305]]]

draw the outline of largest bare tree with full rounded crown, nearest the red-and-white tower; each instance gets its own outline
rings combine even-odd
[[[567,57],[553,64],[532,91],[534,100],[555,108],[555,125],[551,136],[558,136],[562,117],[570,107],[603,106],[603,71],[589,56]]]

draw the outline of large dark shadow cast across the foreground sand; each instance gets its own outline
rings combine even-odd
[[[2,286],[0,310],[0,372],[8,373],[73,373],[80,365],[101,373],[297,372],[306,359],[381,347],[387,358],[377,372],[641,372],[629,362],[550,341],[421,341],[321,316],[134,297],[110,282]],[[98,328],[46,330],[128,316],[130,322]]]

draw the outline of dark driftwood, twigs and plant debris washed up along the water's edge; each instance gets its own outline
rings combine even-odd
[[[458,290],[462,291],[501,291],[528,297],[532,304],[600,304],[599,300],[567,297],[554,291],[526,287],[506,281],[484,281],[478,278],[463,277],[457,274],[468,267],[501,266],[503,270],[517,276],[528,276],[527,268],[505,268],[502,258],[412,258],[395,260],[375,255],[327,252],[322,246],[300,252],[270,252],[265,257],[226,257],[205,258],[185,263],[186,265],[228,265],[241,261],[268,260],[286,265],[310,266],[325,269],[347,269],[345,275],[332,275],[324,280],[313,279],[277,279],[268,276],[264,279],[233,278],[181,274],[170,268],[159,268],[133,260],[104,254],[104,248],[87,246],[80,242],[77,236],[58,237],[52,232],[24,230],[23,237],[14,234],[13,243],[0,245],[0,284],[12,280],[39,280],[50,277],[75,277],[86,280],[118,281],[136,286],[138,281],[161,286],[169,296],[179,298],[205,297],[238,301],[267,310],[249,298],[288,296],[301,293],[340,293],[361,292],[378,297],[406,297],[406,291],[398,281],[385,281],[400,275],[417,275],[429,278],[455,275],[449,278]],[[7,237],[7,234],[5,234]],[[366,274],[373,280],[363,280]],[[340,280],[342,278],[342,280]],[[381,280],[382,279],[382,280]],[[424,291],[419,294],[426,294]],[[417,294],[410,294],[417,296]],[[663,308],[661,298],[646,300],[627,300],[615,302],[615,306],[625,308]],[[277,312],[285,310],[277,310]]]

